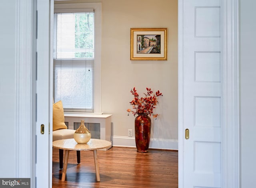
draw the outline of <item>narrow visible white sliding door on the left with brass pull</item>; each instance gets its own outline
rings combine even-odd
[[[52,2],[37,0],[36,188],[52,187],[52,66],[49,14]],[[41,131],[42,125],[44,132]]]

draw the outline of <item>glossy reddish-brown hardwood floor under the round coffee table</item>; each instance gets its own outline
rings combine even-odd
[[[52,152],[52,188],[178,188],[178,152],[112,147],[98,151],[100,182],[96,182],[92,151],[70,151],[66,181],[61,182],[58,149]]]

